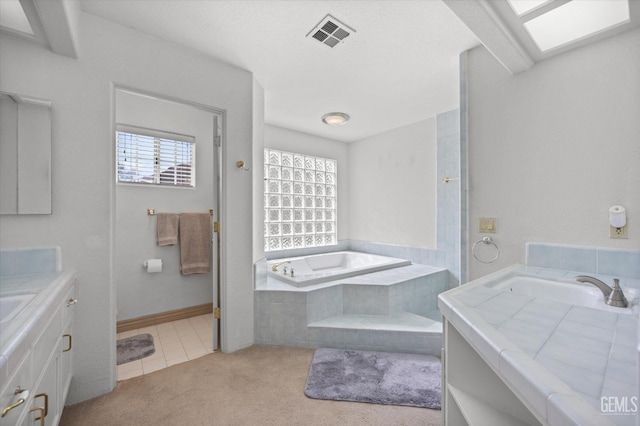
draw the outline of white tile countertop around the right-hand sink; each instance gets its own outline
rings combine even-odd
[[[599,310],[491,288],[513,276],[557,280],[579,274],[514,265],[442,293],[438,307],[538,419],[550,425],[635,426],[638,299],[629,300],[627,313],[617,313],[618,308]],[[623,290],[640,288],[637,279],[620,282]],[[615,408],[616,403],[626,405]]]

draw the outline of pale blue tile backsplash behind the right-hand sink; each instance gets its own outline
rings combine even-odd
[[[527,265],[640,278],[640,250],[527,243]]]

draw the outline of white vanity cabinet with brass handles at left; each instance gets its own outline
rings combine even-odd
[[[40,318],[32,322],[27,336],[34,336],[6,386],[0,403],[3,408],[19,402],[27,390],[24,403],[6,412],[0,426],[55,426],[60,422],[72,376],[72,325],[75,311],[75,285],[71,282],[56,292],[50,303],[39,310]],[[10,366],[9,366],[10,368]]]

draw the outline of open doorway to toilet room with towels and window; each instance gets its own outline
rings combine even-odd
[[[177,362],[206,355],[219,348],[219,236],[213,224],[220,211],[220,138],[224,112],[215,108],[145,93],[114,88],[115,279],[118,338],[151,334],[157,350],[134,364],[118,366],[118,380],[145,374]],[[157,184],[144,175],[138,181],[119,177],[125,167],[118,151],[118,129],[160,141],[189,141],[193,159],[188,169],[176,160],[174,169],[190,173],[188,184]],[[132,130],[133,129],[133,130]],[[160,143],[160,142],[159,142]],[[185,142],[186,143],[186,142]],[[164,149],[164,148],[162,148]],[[156,148],[160,150],[160,148]],[[129,149],[129,161],[140,161]],[[154,154],[156,167],[168,168]],[[164,157],[162,157],[164,158]],[[126,167],[130,167],[130,163]],[[140,166],[142,169],[142,167]],[[129,170],[129,169],[127,169]],[[155,172],[165,176],[166,170]],[[180,245],[159,246],[157,213],[202,212],[210,214],[210,272],[182,275]],[[159,272],[143,266],[161,259]],[[157,263],[157,262],[156,262]],[[168,349],[168,350],[167,350]],[[121,372],[126,371],[126,374]]]

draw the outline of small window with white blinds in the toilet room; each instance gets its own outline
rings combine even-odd
[[[194,188],[195,138],[117,126],[118,183]]]

